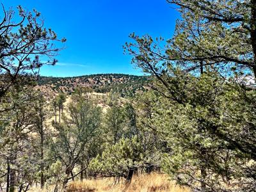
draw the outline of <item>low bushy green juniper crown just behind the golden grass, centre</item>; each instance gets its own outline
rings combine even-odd
[[[122,138],[115,145],[107,145],[102,156],[90,163],[90,170],[102,176],[127,177],[129,170],[143,166],[144,152],[137,136]]]

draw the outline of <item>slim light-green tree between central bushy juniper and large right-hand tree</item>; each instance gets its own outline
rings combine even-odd
[[[170,152],[166,137],[163,136],[161,126],[156,124],[160,121],[161,116],[158,116],[158,109],[161,108],[162,97],[159,93],[149,90],[148,92],[138,93],[133,99],[134,109],[136,111],[136,126],[139,131],[140,139],[143,148],[150,151],[152,156],[143,167],[145,172],[150,173],[154,170],[160,170],[161,156],[164,153]]]

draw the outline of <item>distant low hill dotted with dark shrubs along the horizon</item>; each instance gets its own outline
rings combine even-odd
[[[132,97],[134,93],[145,91],[149,76],[126,74],[96,74],[77,77],[40,77],[38,86],[46,92],[72,93],[77,86],[88,86],[97,93],[120,93],[121,97]]]

